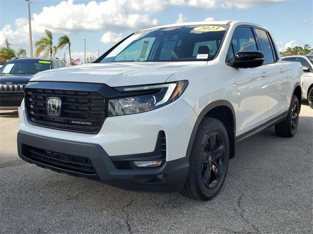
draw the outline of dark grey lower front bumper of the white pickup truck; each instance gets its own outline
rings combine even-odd
[[[25,147],[36,147],[62,155],[88,157],[96,173],[79,173],[34,160],[25,153]],[[52,171],[97,179],[118,188],[143,192],[178,192],[183,187],[189,169],[189,159],[186,156],[165,161],[160,168],[156,169],[116,169],[112,158],[99,144],[44,137],[23,131],[18,133],[18,153],[23,160]],[[143,155],[137,157],[140,156]]]

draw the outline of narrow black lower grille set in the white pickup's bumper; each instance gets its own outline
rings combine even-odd
[[[71,156],[23,145],[23,156],[40,164],[70,172],[96,175],[97,172],[88,157]]]

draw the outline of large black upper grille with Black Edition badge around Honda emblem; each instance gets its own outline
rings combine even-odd
[[[62,100],[59,117],[47,114],[48,98]],[[98,92],[26,88],[25,106],[30,123],[67,131],[98,133],[105,118],[104,97]]]

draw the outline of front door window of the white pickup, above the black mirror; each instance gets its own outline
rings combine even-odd
[[[241,27],[236,29],[228,48],[226,61],[234,61],[237,53],[243,50],[258,50],[252,29],[250,27]]]

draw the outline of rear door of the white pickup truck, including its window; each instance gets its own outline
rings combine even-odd
[[[255,28],[255,32],[265,58],[262,74],[269,79],[268,117],[272,118],[287,109],[288,76],[270,34],[261,28]]]

